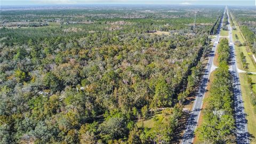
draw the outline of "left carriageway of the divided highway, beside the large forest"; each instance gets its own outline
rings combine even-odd
[[[226,9],[225,9],[223,15],[225,15],[225,13],[226,13]],[[221,18],[221,25],[218,28],[217,36],[216,36],[215,42],[213,44],[212,51],[209,55],[209,61],[206,66],[206,70],[205,70],[205,73],[204,73],[204,76],[202,79],[202,83],[201,83],[201,85],[199,87],[199,91],[196,95],[196,100],[194,101],[190,118],[188,119],[188,125],[187,125],[187,129],[185,131],[185,134],[183,135],[182,143],[193,143],[193,140],[194,140],[194,131],[196,130],[199,115],[201,113],[201,109],[203,106],[203,99],[204,99],[204,95],[206,92],[207,82],[209,80],[210,73],[212,72],[212,68],[214,67],[213,59],[214,59],[216,47],[220,40],[220,29],[222,26],[222,22],[223,22],[223,17]]]

